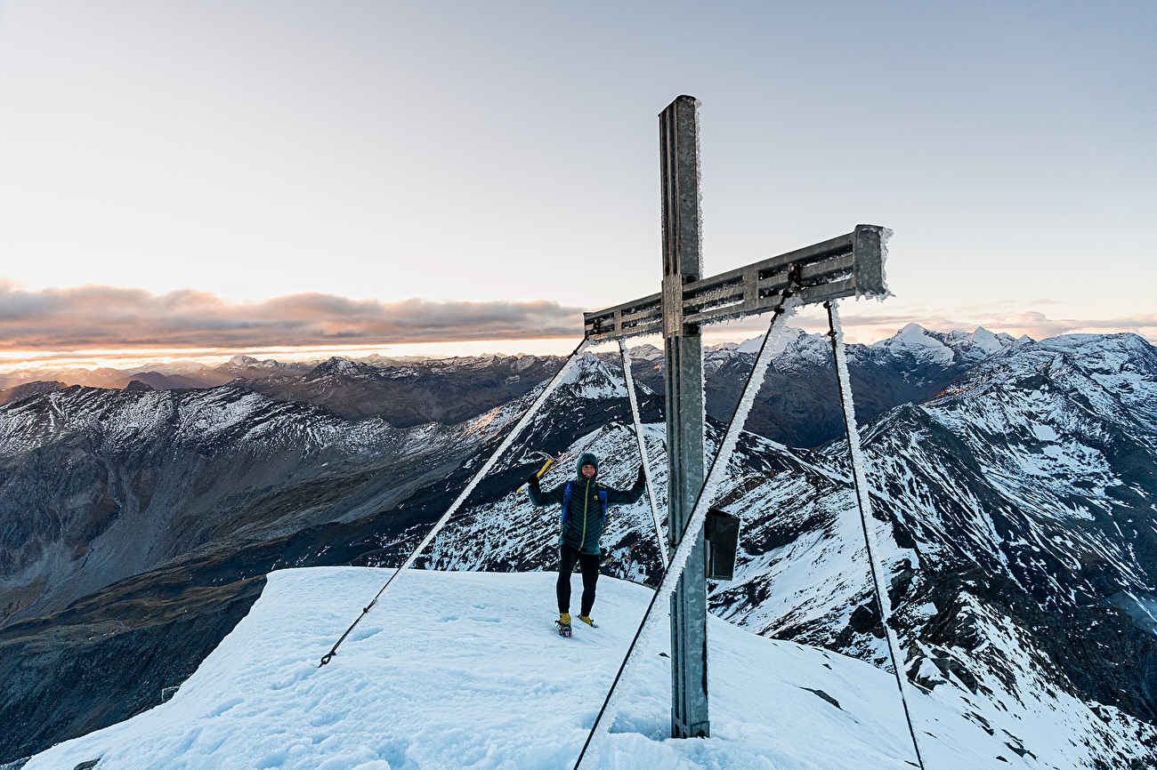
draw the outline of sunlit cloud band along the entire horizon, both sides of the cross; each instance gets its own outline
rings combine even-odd
[[[1047,305],[1047,301],[1029,303]],[[818,319],[818,316],[817,316]],[[801,317],[823,331],[826,320]],[[983,326],[1040,340],[1059,334],[1133,332],[1157,339],[1157,313],[1108,319],[1053,319],[1038,310],[997,302],[960,308],[848,303],[849,339],[872,342],[915,323],[936,331]],[[742,336],[766,319],[710,327],[712,336]],[[811,328],[815,326],[816,328]],[[49,354],[93,350],[255,350],[349,348],[509,340],[575,340],[582,309],[558,302],[399,302],[295,294],[257,302],[231,302],[196,290],[155,295],[143,289],[82,286],[27,290],[0,279],[0,351],[28,361]],[[569,348],[569,342],[562,347]],[[560,348],[561,349],[561,348]]]

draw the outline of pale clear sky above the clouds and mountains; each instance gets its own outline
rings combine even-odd
[[[3,1],[0,279],[613,304],[692,94],[708,272],[878,223],[861,339],[1154,339],[1155,39],[1151,1]]]

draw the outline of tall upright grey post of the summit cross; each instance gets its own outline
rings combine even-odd
[[[703,351],[683,323],[683,286],[703,276],[699,210],[699,102],[680,96],[659,114],[663,177],[663,336],[666,365],[668,538],[678,542],[703,486]],[[671,736],[710,735],[707,713],[706,543],[671,597]]]

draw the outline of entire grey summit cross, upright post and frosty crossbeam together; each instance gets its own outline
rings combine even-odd
[[[823,243],[702,276],[699,101],[659,113],[663,283],[657,294],[584,313],[595,341],[662,333],[666,373],[668,540],[673,548],[703,487],[701,328],[780,306],[854,295],[886,296],[884,228],[860,224]],[[671,735],[707,736],[707,582],[703,533],[671,598]]]

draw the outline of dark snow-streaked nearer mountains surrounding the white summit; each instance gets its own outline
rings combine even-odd
[[[909,679],[1008,704],[1017,717],[993,728],[1009,732],[1010,750],[1032,752],[1018,723],[1063,713],[1088,755],[1073,767],[1152,761],[1152,730],[1137,719],[1157,717],[1147,625],[1157,607],[1154,349],[1133,335],[1014,343],[906,332],[891,346],[849,346],[849,356],[854,382],[875,372],[886,391],[860,386],[862,419],[861,398],[938,395],[892,405],[864,431]],[[818,382],[826,343],[790,341],[765,397],[776,376]],[[709,351],[710,377],[727,367],[745,377],[745,360],[743,349]],[[378,387],[379,371],[327,363],[309,382],[331,393]],[[644,382],[655,371],[646,350],[634,371]],[[304,382],[265,379],[278,377]],[[0,408],[0,721],[12,726],[0,762],[157,703],[244,615],[271,569],[399,563],[533,386],[472,420],[412,428],[278,400],[249,380],[69,387]],[[587,356],[420,565],[552,569],[555,512],[513,490],[540,462],[536,450],[563,454],[546,484],[594,450],[606,458],[603,479],[628,486],[639,460],[625,393],[617,361]],[[838,403],[834,379],[832,395]],[[644,393],[642,405],[665,510],[661,398]],[[737,579],[713,585],[710,602],[754,632],[882,664],[845,452],[744,437],[717,499],[744,519]],[[646,497],[616,509],[603,546],[607,573],[657,579]]]

